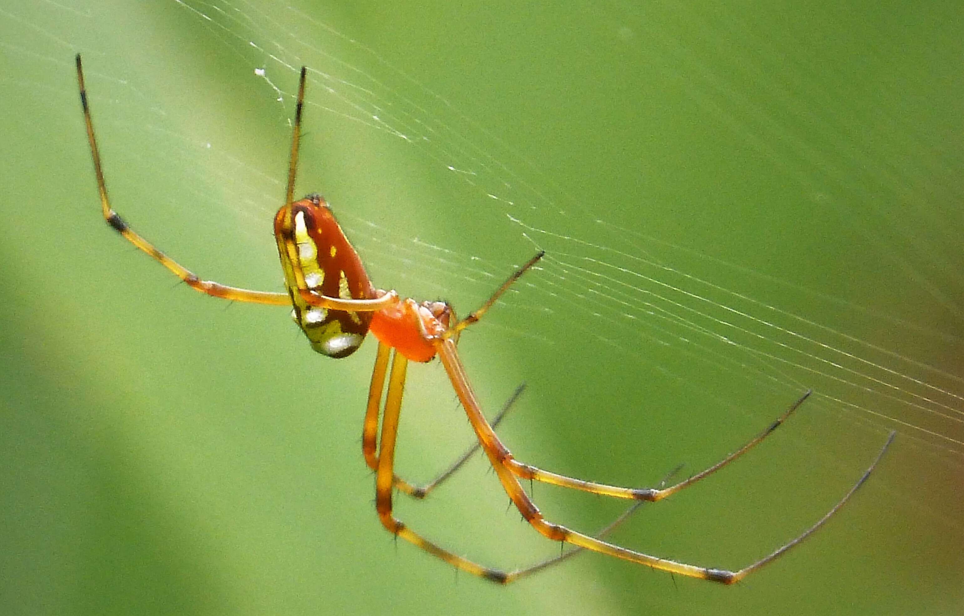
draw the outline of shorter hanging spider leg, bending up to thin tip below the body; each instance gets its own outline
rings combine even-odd
[[[384,343],[379,343],[378,353],[375,356],[375,368],[371,375],[371,386],[368,389],[368,405],[365,410],[364,424],[362,426],[362,454],[364,455],[365,464],[367,464],[368,468],[372,471],[378,471],[378,455],[375,451],[378,437],[378,416],[382,405],[382,391],[385,387],[385,376],[388,372],[388,358],[390,353],[391,347],[388,347],[388,345]],[[505,404],[502,405],[502,410],[499,411],[492,422],[494,428],[502,421],[516,399],[522,395],[524,387],[524,385],[520,385],[513,395],[506,400]],[[439,487],[445,479],[458,471],[480,447],[476,441],[473,446],[466,450],[466,452],[450,465],[448,469],[442,472],[441,475],[438,475],[435,479],[424,485],[415,485],[398,475],[394,475],[393,481],[395,488],[415,499],[424,499],[429,493]]]

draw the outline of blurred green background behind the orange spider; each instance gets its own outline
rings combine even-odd
[[[4,614],[956,614],[964,609],[959,3],[0,4]],[[726,472],[614,539],[737,587],[589,554],[509,587],[379,525],[360,434],[374,344],[334,362],[286,311],[193,294],[101,220],[73,54],[114,205],[202,277],[280,290],[298,193],[375,283],[461,312],[536,246],[462,352],[500,433],[550,470]],[[264,75],[255,74],[263,68]],[[735,295],[738,294],[738,295]],[[856,358],[856,359],[855,359]],[[470,432],[410,368],[399,471]],[[623,508],[535,486],[584,530]],[[475,460],[400,516],[506,568],[557,553]]]

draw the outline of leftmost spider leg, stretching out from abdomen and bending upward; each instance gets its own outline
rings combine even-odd
[[[162,266],[171,270],[175,276],[186,282],[188,286],[195,291],[206,295],[212,295],[214,297],[231,299],[234,301],[249,301],[260,304],[271,304],[275,306],[290,305],[291,299],[287,294],[266,291],[251,291],[249,289],[240,289],[238,287],[228,287],[227,285],[210,280],[201,280],[194,272],[184,268],[179,263],[174,261],[174,259],[158,250],[154,244],[147,242],[143,236],[134,232],[134,230],[127,226],[127,223],[124,222],[120,216],[118,216],[118,213],[111,208],[110,199],[107,197],[107,185],[104,182],[104,173],[100,163],[100,153],[97,149],[97,141],[94,138],[94,122],[91,120],[91,108],[87,102],[87,89],[84,86],[84,70],[80,63],[80,54],[77,54],[75,60],[77,64],[77,86],[80,89],[80,105],[84,112],[84,124],[87,127],[87,140],[91,145],[91,158],[94,160],[94,174],[97,177],[97,191],[100,193],[101,211],[103,212],[104,220],[107,221],[107,224],[109,224],[115,231],[120,233],[120,235],[122,235],[128,242],[134,244],[139,249],[150,255],[151,258],[156,260]]]

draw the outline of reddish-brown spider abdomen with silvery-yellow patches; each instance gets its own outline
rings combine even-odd
[[[284,284],[294,307],[292,318],[311,347],[330,357],[347,357],[362,345],[371,312],[312,306],[305,290],[341,299],[373,299],[368,274],[355,248],[320,195],[283,206],[275,216],[275,239],[284,269]]]

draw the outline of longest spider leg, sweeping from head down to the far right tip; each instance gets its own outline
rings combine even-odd
[[[539,511],[539,507],[537,507],[536,504],[525,494],[518,477],[513,475],[505,465],[505,460],[507,458],[511,458],[512,454],[508,449],[505,448],[504,445],[502,445],[501,441],[498,439],[498,436],[495,435],[495,431],[486,422],[478,400],[475,398],[475,394],[472,392],[471,386],[469,385],[465,368],[462,365],[462,361],[459,359],[455,344],[451,340],[440,341],[439,356],[442,359],[442,365],[445,368],[445,372],[448,373],[449,380],[452,382],[452,387],[455,388],[456,393],[462,400],[462,405],[465,407],[466,413],[469,416],[469,423],[472,424],[472,428],[475,430],[475,434],[478,437],[479,442],[482,444],[482,448],[485,449],[486,454],[489,456],[489,460],[492,462],[493,468],[495,469],[495,475],[498,476],[498,479],[501,482],[502,487],[505,489],[506,494],[509,496],[509,499],[516,505],[520,513],[522,513],[522,517],[525,518],[529,525],[533,526],[537,531],[539,531],[540,534],[553,541],[570,543],[579,548],[585,548],[587,550],[592,550],[593,552],[608,554],[610,556],[629,560],[630,562],[636,562],[647,565],[654,569],[668,571],[673,574],[680,574],[689,578],[708,579],[710,581],[716,581],[724,584],[733,584],[740,579],[745,578],[747,575],[756,571],[757,569],[760,569],[763,567],[763,565],[789,552],[790,549],[798,546],[803,542],[804,539],[812,535],[817,528],[823,526],[834,514],[840,511],[850,497],[853,496],[857,489],[867,480],[867,478],[870,476],[870,473],[872,473],[873,469],[876,467],[877,462],[880,461],[881,457],[884,455],[884,452],[894,440],[894,433],[892,432],[891,437],[887,440],[887,443],[884,445],[883,449],[881,449],[877,454],[877,457],[870,465],[870,468],[868,468],[864,475],[860,477],[850,491],[844,495],[844,498],[838,501],[837,504],[830,509],[830,511],[828,511],[817,521],[817,524],[811,526],[796,538],[790,540],[790,542],[778,548],[774,552],[771,552],[760,560],[736,571],[690,565],[687,563],[678,562],[667,558],[660,558],[658,556],[652,556],[643,552],[635,552],[627,548],[622,548],[620,546],[606,543],[602,539],[576,532],[575,530],[571,530],[566,526],[557,525],[546,520]]]

